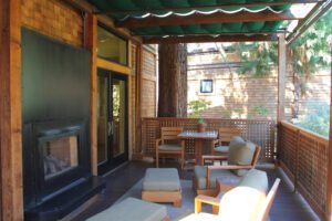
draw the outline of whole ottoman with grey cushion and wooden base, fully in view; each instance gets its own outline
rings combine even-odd
[[[177,169],[147,169],[143,180],[142,199],[152,202],[173,202],[174,207],[181,207],[181,187]]]

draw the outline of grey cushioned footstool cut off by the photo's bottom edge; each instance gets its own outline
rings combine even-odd
[[[127,198],[86,221],[168,221],[165,206]]]

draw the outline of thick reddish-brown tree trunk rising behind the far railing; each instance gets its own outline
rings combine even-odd
[[[186,44],[159,44],[158,116],[187,116]]]

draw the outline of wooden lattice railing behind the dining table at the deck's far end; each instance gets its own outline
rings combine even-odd
[[[262,147],[260,161],[273,161],[276,156],[276,124],[273,120],[207,119],[207,125],[208,130],[218,130],[219,127],[240,128],[243,138]],[[142,146],[138,151],[144,156],[154,156],[155,140],[160,137],[160,128],[177,126],[184,127],[185,130],[196,130],[197,119],[168,117],[143,118]],[[186,140],[186,157],[194,158],[194,140]]]

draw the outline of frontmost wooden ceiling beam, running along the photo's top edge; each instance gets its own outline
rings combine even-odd
[[[250,3],[242,3],[242,4],[225,4],[219,3],[215,6],[197,6],[197,7],[168,7],[164,9],[137,9],[137,10],[112,10],[112,11],[98,11],[96,13],[98,14],[114,14],[114,13],[122,13],[122,14],[135,14],[135,13],[158,13],[158,12],[165,12],[165,11],[183,11],[183,10],[214,10],[214,9],[228,9],[234,7],[242,7],[242,8],[249,8],[249,7],[272,7],[272,6],[282,6],[282,4],[295,4],[295,3],[317,3],[324,0],[276,0],[272,2],[262,2],[260,0],[255,0]]]

